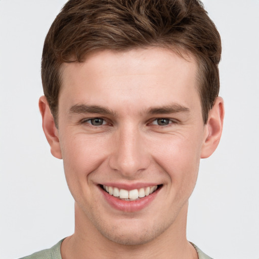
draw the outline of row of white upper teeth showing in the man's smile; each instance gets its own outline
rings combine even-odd
[[[130,191],[124,189],[119,190],[116,187],[106,185],[103,185],[103,189],[106,190],[106,192],[108,192],[110,195],[113,195],[114,197],[119,197],[120,199],[132,201],[150,195],[151,193],[157,190],[157,185],[149,186],[146,188],[134,189]]]

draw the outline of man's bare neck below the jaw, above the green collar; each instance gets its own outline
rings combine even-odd
[[[104,237],[75,204],[75,233],[61,245],[62,259],[90,258],[181,258],[197,259],[195,248],[187,241],[188,202],[177,219],[160,236],[140,245],[123,245]]]

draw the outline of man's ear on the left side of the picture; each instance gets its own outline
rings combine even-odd
[[[39,111],[42,116],[42,128],[51,146],[51,153],[56,158],[62,159],[59,133],[54,122],[48,101],[45,96],[41,96],[38,102]]]

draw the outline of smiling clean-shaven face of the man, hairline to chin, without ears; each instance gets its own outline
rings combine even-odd
[[[205,139],[196,75],[160,48],[63,65],[58,138],[82,226],[142,244],[186,221]]]

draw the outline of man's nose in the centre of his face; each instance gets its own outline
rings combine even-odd
[[[113,136],[109,166],[126,178],[148,168],[150,155],[145,145],[145,138],[134,127],[124,127]]]

